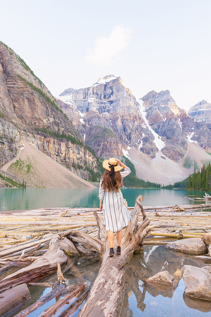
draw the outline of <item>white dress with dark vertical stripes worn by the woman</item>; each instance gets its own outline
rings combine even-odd
[[[131,170],[129,167],[120,171],[122,178],[129,175]],[[119,231],[126,227],[128,221],[131,219],[130,213],[125,204],[121,190],[118,191],[104,191],[102,188],[102,177],[100,180],[99,196],[100,200],[103,199],[102,212],[104,215],[104,226],[106,230],[113,232]],[[104,198],[103,198],[104,197]]]

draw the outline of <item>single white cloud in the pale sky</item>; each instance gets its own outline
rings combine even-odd
[[[115,26],[109,37],[97,38],[95,49],[86,55],[86,60],[91,64],[111,64],[113,58],[129,44],[130,34],[131,30],[123,28],[123,25]]]

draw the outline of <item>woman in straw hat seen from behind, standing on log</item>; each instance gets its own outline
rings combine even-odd
[[[105,172],[100,180],[98,197],[100,199],[100,210],[103,211],[104,215],[104,226],[108,230],[109,256],[114,256],[114,233],[116,232],[117,240],[116,253],[121,254],[121,230],[127,226],[128,221],[131,219],[120,190],[123,185],[122,178],[129,175],[131,171],[129,167],[115,158],[104,160],[102,166],[105,168]],[[124,171],[120,172],[122,168],[124,168]]]

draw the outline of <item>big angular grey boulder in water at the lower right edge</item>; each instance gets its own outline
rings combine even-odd
[[[211,274],[205,268],[184,265],[182,276],[185,283],[185,295],[211,301]]]

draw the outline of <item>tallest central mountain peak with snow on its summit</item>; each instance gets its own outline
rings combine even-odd
[[[143,152],[152,155],[152,157],[158,151],[153,143],[154,136],[145,125],[140,113],[139,103],[130,89],[125,87],[120,77],[109,75],[100,78],[91,87],[78,90],[67,89],[60,94],[59,99],[66,103],[64,105],[58,101],[71,121],[77,121],[76,126],[85,143],[91,144],[90,127],[101,126],[113,132],[113,135],[121,141],[124,149],[131,146],[138,149],[143,146]],[[82,125],[76,119],[76,115]],[[94,130],[92,129],[92,131]],[[104,130],[103,133],[103,142],[111,146],[114,151],[117,139],[111,137],[111,134],[106,131]],[[115,143],[113,143],[114,141]],[[102,146],[103,144],[98,143],[98,146],[101,147],[99,152],[102,157],[106,158],[109,156],[108,148]],[[119,150],[115,152],[115,156],[119,158],[122,157],[121,145],[118,143]]]

